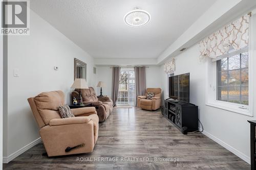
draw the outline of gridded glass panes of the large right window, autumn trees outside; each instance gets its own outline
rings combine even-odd
[[[248,106],[248,48],[228,54],[217,60],[217,100]]]

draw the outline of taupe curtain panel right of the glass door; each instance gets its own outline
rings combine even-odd
[[[136,89],[136,106],[137,96],[146,93],[146,67],[134,67],[135,70],[135,89]]]

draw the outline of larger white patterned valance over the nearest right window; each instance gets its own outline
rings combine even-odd
[[[249,39],[249,19],[249,15],[242,16],[200,41],[200,59],[204,57],[216,58],[224,55],[228,52],[230,46],[234,50],[246,47]]]

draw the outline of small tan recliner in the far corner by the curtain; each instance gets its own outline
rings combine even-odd
[[[146,99],[147,93],[153,92],[155,94],[154,98]],[[137,105],[144,110],[157,110],[161,106],[161,88],[147,88],[146,95],[140,95],[137,98]]]

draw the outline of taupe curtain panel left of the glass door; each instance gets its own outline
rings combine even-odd
[[[112,72],[113,106],[116,106],[116,102],[117,102],[117,98],[118,98],[119,79],[120,79],[120,67],[113,67],[113,72]]]

